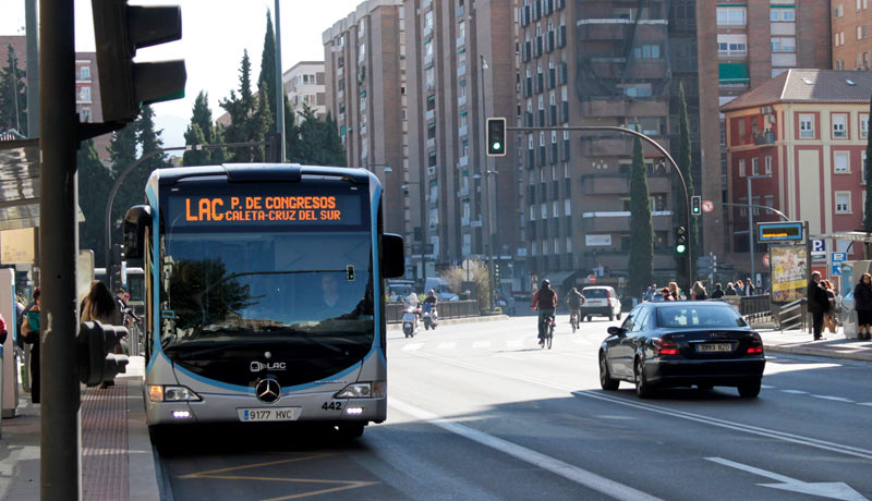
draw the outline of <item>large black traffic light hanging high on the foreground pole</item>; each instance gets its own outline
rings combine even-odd
[[[184,97],[184,60],[134,63],[136,49],[182,38],[179,5],[92,0],[105,122],[132,122],[140,107]]]

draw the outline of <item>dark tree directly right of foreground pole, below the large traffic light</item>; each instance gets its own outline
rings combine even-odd
[[[94,250],[95,266],[104,267],[106,249],[106,204],[114,176],[102,164],[94,140],[82,143],[76,152],[78,207],[85,221],[78,225],[78,246]]]

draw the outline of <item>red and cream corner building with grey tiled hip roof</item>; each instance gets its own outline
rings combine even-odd
[[[788,70],[724,106],[729,200],[746,205],[750,191],[752,205],[808,221],[812,235],[862,228],[870,91],[869,72]],[[754,222],[778,220],[752,211]],[[747,253],[748,209],[731,217],[730,245]],[[758,259],[766,252],[755,250]],[[860,258],[855,246],[848,259]]]

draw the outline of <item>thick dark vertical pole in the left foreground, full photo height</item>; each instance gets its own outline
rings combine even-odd
[[[81,499],[73,0],[40,0],[40,499]],[[33,54],[34,57],[36,54]]]

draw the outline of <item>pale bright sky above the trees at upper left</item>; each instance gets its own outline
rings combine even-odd
[[[74,1],[76,51],[94,51],[90,0]],[[361,2],[281,0],[282,71],[288,71],[299,61],[323,60],[322,34],[347,17]],[[187,84],[184,99],[153,105],[157,126],[164,130],[164,146],[183,146],[184,130],[201,90],[208,93],[213,118],[223,113],[218,101],[227,98],[231,89],[238,89],[239,69],[245,49],[252,63],[252,80],[257,78],[266,34],[266,12],[274,11],[275,0],[136,0],[135,3],[178,4],[182,8],[182,39],[140,49],[135,60],[185,60]],[[0,35],[23,35],[24,25],[24,0],[0,0]]]

